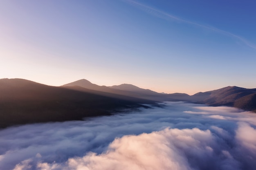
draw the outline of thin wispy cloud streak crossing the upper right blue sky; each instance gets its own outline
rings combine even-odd
[[[211,31],[214,31],[214,32],[217,32],[217,33],[222,33],[226,36],[229,36],[231,38],[235,38],[236,40],[239,40],[240,42],[242,42],[243,44],[251,47],[251,48],[254,48],[256,49],[256,45],[255,44],[252,44],[251,42],[249,42],[248,40],[246,40],[245,38],[243,37],[240,37],[238,35],[235,35],[233,33],[230,33],[228,31],[224,31],[222,29],[218,29],[218,28],[214,28],[214,27],[211,27],[211,26],[206,26],[206,25],[203,25],[203,24],[198,24],[196,22],[191,22],[189,20],[184,20],[182,18],[179,18],[177,16],[174,16],[174,15],[170,15],[166,12],[163,12],[163,11],[160,11],[158,9],[155,9],[155,8],[152,8],[152,7],[149,7],[145,4],[141,4],[139,2],[136,2],[134,0],[123,0],[124,2],[127,2],[128,4],[134,6],[134,7],[137,7],[139,9],[141,9],[142,11],[145,11],[151,15],[154,15],[158,18],[162,18],[162,19],[165,19],[165,20],[176,20],[178,22],[183,22],[183,23],[186,23],[186,24],[191,24],[191,25],[195,25],[195,26],[199,26],[201,28],[204,28],[204,29],[208,29],[208,30],[211,30]]]

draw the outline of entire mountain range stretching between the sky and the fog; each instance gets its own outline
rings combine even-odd
[[[157,93],[131,84],[98,86],[85,79],[61,87],[25,79],[0,79],[0,128],[110,115],[122,108],[137,108],[143,106],[141,104],[155,104],[156,101],[234,106],[256,112],[256,89],[228,86],[190,96],[184,93]]]

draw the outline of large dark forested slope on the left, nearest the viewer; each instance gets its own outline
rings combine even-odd
[[[0,79],[0,128],[47,121],[82,120],[110,115],[121,108],[136,108],[153,101],[94,94],[47,86],[25,79]]]

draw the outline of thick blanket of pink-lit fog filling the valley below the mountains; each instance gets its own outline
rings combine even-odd
[[[168,102],[0,131],[0,170],[255,170],[256,114]]]

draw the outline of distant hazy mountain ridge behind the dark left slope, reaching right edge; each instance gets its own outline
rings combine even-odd
[[[76,82],[81,83],[84,80],[79,80]],[[64,86],[79,86],[79,83],[72,82]],[[185,93],[157,93],[149,89],[139,88],[132,84],[120,84],[115,86],[92,86],[88,84],[80,84],[83,88],[94,89],[97,91],[104,91],[108,93],[115,93],[130,97],[137,97],[141,99],[150,99],[162,101],[186,101],[186,102],[196,102],[200,104],[209,104],[211,106],[234,106],[244,110],[250,110],[256,112],[256,102],[254,102],[254,94],[256,94],[256,88],[247,89],[237,86],[227,86],[213,91],[199,92],[194,95],[188,95]],[[97,87],[97,88],[96,88]],[[112,89],[112,90],[110,90]]]

